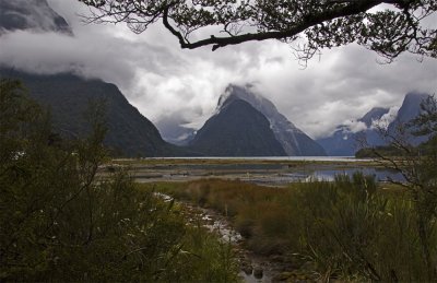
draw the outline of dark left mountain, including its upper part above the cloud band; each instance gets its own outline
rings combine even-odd
[[[46,0],[0,0],[0,36],[2,32],[15,30],[72,35],[66,20]],[[90,127],[84,113],[90,101],[99,101],[106,105],[105,145],[115,154],[126,157],[198,155],[165,142],[155,126],[114,84],[73,74],[31,74],[5,67],[0,67],[0,78],[21,80],[31,97],[49,108],[55,130],[66,138],[86,134]]]

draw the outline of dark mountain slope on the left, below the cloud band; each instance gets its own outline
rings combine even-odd
[[[31,97],[50,109],[55,130],[63,135],[81,135],[88,130],[83,115],[90,101],[96,99],[103,101],[107,109],[105,144],[120,156],[192,155],[165,142],[114,84],[72,74],[37,75],[5,69],[0,69],[0,76],[20,79]]]

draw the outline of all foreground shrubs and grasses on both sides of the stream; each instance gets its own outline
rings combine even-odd
[[[122,166],[97,174],[108,161],[103,113],[92,103],[87,138],[64,140],[20,83],[0,82],[0,281],[238,281],[232,247],[155,191],[223,213],[247,248],[281,257],[290,278],[437,278],[435,135],[422,155],[404,148],[383,160],[406,179],[383,188],[361,174],[287,188],[140,185]]]

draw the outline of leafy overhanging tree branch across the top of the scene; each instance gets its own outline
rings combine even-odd
[[[435,0],[79,1],[96,8],[88,22],[125,22],[142,33],[161,21],[181,48],[274,38],[293,44],[302,59],[351,43],[389,60],[404,51],[437,57],[435,22],[426,23],[435,16]]]

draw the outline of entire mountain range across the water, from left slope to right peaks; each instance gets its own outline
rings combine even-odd
[[[46,0],[0,0],[0,37],[17,30],[74,36],[67,21]],[[105,101],[108,126],[105,144],[128,157],[354,155],[356,141],[362,135],[371,145],[382,143],[374,123],[388,115],[388,109],[374,108],[357,120],[364,129],[353,131],[350,126],[342,125],[331,137],[316,142],[279,113],[272,102],[256,94],[250,85],[229,85],[218,99],[216,113],[197,132],[165,127],[168,129],[165,135],[185,145],[181,148],[164,141],[156,127],[130,105],[114,84],[71,73],[25,73],[10,66],[0,66],[0,76],[22,80],[29,95],[51,109],[55,128],[64,135],[86,132],[88,125],[82,117],[90,99]],[[398,116],[388,126],[389,131],[415,117],[424,97],[425,94],[417,93],[406,95]],[[173,121],[162,121],[165,122],[172,125]],[[412,139],[414,143],[423,141],[423,138]]]

